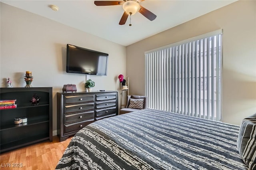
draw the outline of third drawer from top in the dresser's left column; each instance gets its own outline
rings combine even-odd
[[[83,113],[76,113],[71,115],[64,115],[64,124],[84,121],[86,119],[93,119],[94,118],[94,111],[88,111]]]

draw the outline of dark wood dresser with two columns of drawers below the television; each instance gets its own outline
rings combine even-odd
[[[118,91],[57,93],[57,133],[66,140],[86,125],[118,115]]]

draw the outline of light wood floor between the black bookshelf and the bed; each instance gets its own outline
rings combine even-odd
[[[56,165],[72,137],[59,142],[57,136],[53,141],[40,142],[0,155],[1,170],[55,170]],[[22,167],[17,167],[22,166]]]

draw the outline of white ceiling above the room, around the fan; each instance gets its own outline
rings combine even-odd
[[[236,0],[145,0],[140,5],[156,14],[148,20],[139,12],[119,25],[122,5],[96,6],[94,0],[1,0],[17,8],[124,46],[226,6]],[[58,6],[54,11],[50,5]]]

